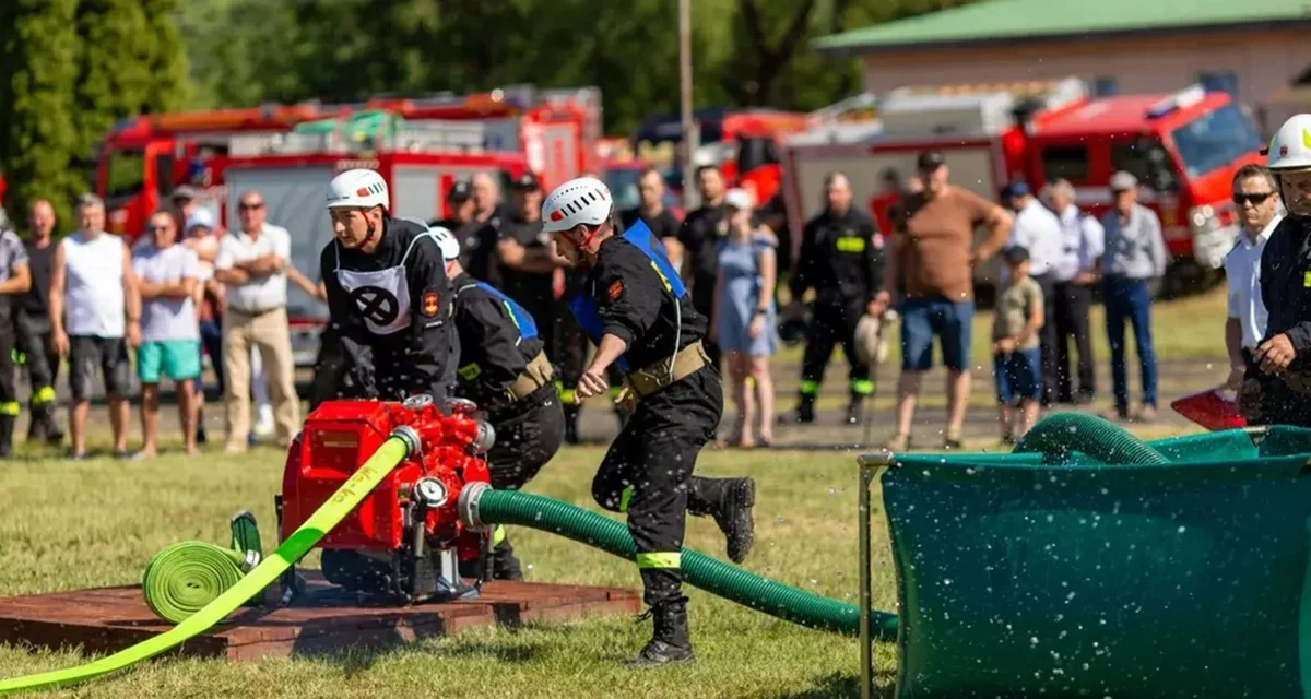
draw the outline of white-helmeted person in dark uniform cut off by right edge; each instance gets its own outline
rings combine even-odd
[[[1270,142],[1269,168],[1285,216],[1261,253],[1265,337],[1248,357],[1239,404],[1249,424],[1311,428],[1311,114]]]

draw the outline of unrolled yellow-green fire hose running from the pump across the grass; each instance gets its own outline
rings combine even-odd
[[[267,559],[257,565],[249,574],[227,589],[216,599],[206,605],[195,614],[187,616],[182,623],[160,633],[149,640],[142,641],[131,648],[119,650],[87,665],[54,670],[28,677],[0,681],[0,695],[13,694],[24,690],[41,690],[83,682],[102,674],[114,673],[164,653],[184,641],[195,637],[210,627],[225,619],[248,599],[278,580],[278,576],[291,568],[309,549],[341,522],[364,496],[367,496],[379,483],[405,460],[412,449],[418,446],[418,437],[408,428],[399,428],[392,437],[383,442],[383,446],[359,467],[341,489],[333,493],[332,498],[315,510],[309,519],[287,538]],[[157,565],[157,563],[156,563]],[[233,565],[228,561],[228,565]],[[184,601],[185,602],[185,601]]]

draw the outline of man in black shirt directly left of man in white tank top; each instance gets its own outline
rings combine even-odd
[[[64,439],[64,431],[55,421],[55,379],[59,376],[59,351],[50,340],[50,264],[55,258],[55,209],[50,202],[38,199],[31,205],[29,219],[31,236],[24,241],[28,252],[28,270],[31,274],[31,289],[18,302],[14,313],[17,329],[18,357],[28,370],[28,386],[31,397],[28,408],[31,421],[28,424],[28,441],[45,439],[58,445]]]

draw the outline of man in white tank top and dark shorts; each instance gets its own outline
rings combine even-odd
[[[77,199],[80,228],[59,243],[50,270],[51,338],[68,358],[72,389],[72,458],[87,455],[87,413],[100,371],[109,399],[114,456],[127,456],[128,345],[140,344],[142,299],[132,279],[127,244],[105,232],[105,203]]]

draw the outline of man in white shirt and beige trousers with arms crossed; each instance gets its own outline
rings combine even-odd
[[[240,230],[219,241],[214,278],[224,285],[223,369],[227,408],[228,454],[246,449],[250,430],[250,348],[269,380],[279,446],[291,443],[299,430],[300,399],[295,388],[291,333],[287,327],[287,265],[291,236],[286,228],[265,222],[265,202],[258,191],[239,198]]]

